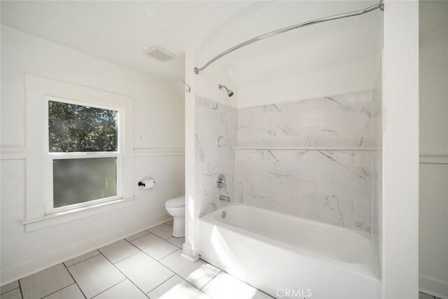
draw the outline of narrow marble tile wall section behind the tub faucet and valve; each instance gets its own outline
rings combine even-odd
[[[195,199],[201,202],[201,215],[222,207],[219,195],[235,202],[235,146],[238,110],[201,97],[195,98]],[[218,189],[218,174],[227,186]]]

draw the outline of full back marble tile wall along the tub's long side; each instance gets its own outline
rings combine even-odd
[[[237,201],[372,230],[372,92],[238,114]]]

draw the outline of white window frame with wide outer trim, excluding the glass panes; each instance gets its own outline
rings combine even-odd
[[[26,88],[26,208],[27,232],[93,216],[134,202],[133,109],[134,99],[38,76],[25,76]],[[50,153],[48,145],[48,100],[118,111],[118,151],[97,153]],[[114,197],[53,208],[52,160],[83,157],[117,158],[117,195]]]

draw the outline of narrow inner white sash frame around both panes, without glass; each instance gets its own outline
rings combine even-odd
[[[118,111],[118,151],[102,151],[102,152],[70,152],[70,153],[51,153],[50,152],[50,143],[49,143],[49,128],[48,128],[48,102],[62,102],[66,104],[74,104],[79,106],[89,106],[92,108],[99,108],[99,109],[107,109],[107,110],[113,110]],[[46,144],[46,151],[47,151],[47,158],[45,159],[45,214],[53,214],[58,213],[60,211],[68,211],[71,209],[79,209],[81,207],[88,207],[92,204],[99,204],[102,202],[109,202],[112,200],[118,200],[122,198],[122,187],[123,187],[123,151],[121,151],[121,148],[123,148],[123,144],[121,144],[122,141],[122,135],[123,135],[123,118],[121,118],[121,114],[123,113],[123,109],[121,107],[116,106],[106,106],[102,104],[97,103],[90,103],[90,102],[83,102],[79,100],[73,100],[73,99],[64,99],[61,97],[52,97],[50,95],[45,95],[44,97],[44,105],[45,105],[45,144]],[[111,196],[111,197],[104,197],[99,198],[97,200],[89,200],[87,202],[80,202],[78,204],[69,204],[64,207],[54,207],[54,195],[53,195],[53,160],[59,160],[59,159],[88,159],[88,158],[116,158],[116,193],[117,195]]]

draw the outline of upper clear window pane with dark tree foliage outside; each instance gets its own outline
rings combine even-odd
[[[118,111],[48,101],[50,153],[118,151]]]

